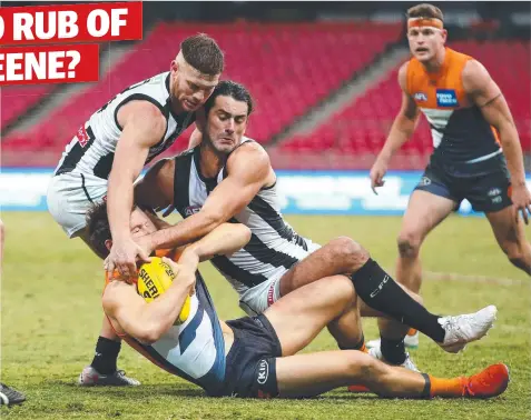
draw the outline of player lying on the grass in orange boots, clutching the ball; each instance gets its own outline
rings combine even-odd
[[[104,250],[111,246],[106,219],[105,209],[96,208],[89,221],[92,244]],[[138,208],[130,222],[134,237],[156,229]],[[311,397],[352,383],[378,396],[401,398],[492,398],[507,389],[509,371],[501,363],[472,377],[440,379],[390,367],[355,350],[295,356],[356,300],[353,282],[345,276],[304,286],[263,314],[218,320],[197,264],[244,246],[250,232],[242,228],[239,223],[218,226],[186,248],[178,264],[166,259],[176,278],[151,303],[137,293],[135,284],[107,277],[102,304],[117,333],[161,369],[213,397]],[[176,324],[188,296],[188,318]],[[363,336],[361,330],[357,333]]]

